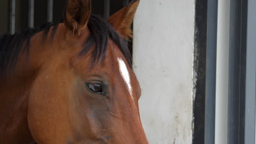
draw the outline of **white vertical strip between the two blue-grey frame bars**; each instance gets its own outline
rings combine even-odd
[[[215,143],[228,142],[230,0],[218,3]]]

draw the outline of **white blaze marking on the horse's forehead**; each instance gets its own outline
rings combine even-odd
[[[119,70],[120,70],[120,73],[128,87],[128,90],[129,90],[129,93],[132,97],[132,87],[131,87],[131,80],[130,80],[130,75],[129,75],[129,71],[126,67],[126,64],[125,62],[123,61],[123,59],[121,58],[118,58],[118,63],[119,63]],[[133,97],[132,97],[132,100],[133,100]]]

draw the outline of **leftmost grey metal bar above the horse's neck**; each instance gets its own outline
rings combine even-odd
[[[9,32],[10,34],[15,33],[15,0],[10,0],[10,27]]]

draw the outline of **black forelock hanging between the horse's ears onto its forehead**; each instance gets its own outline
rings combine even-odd
[[[95,44],[95,49],[92,52],[92,64],[103,62],[108,50],[108,40],[110,39],[119,47],[121,52],[123,52],[131,67],[131,53],[128,49],[127,41],[121,38],[106,20],[100,16],[91,15],[88,28],[90,29],[91,35],[86,40],[85,47],[82,52],[80,52],[80,55],[88,52]]]

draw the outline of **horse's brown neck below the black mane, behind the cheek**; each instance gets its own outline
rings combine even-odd
[[[27,122],[28,100],[40,65],[53,51],[52,47],[45,49],[50,40],[41,47],[42,39],[43,32],[35,34],[28,55],[24,52],[13,73],[0,79],[0,143],[33,142]]]

